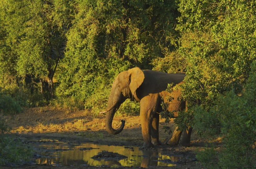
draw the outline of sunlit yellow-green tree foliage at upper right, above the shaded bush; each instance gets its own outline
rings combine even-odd
[[[184,91],[206,107],[220,93],[240,93],[255,59],[255,1],[180,1],[179,53],[186,57]],[[193,15],[191,15],[193,12]],[[204,91],[198,91],[199,85]],[[201,96],[200,96],[201,95]]]

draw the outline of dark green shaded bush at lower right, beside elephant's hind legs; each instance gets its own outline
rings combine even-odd
[[[256,140],[256,62],[241,96],[234,90],[220,95],[208,111],[197,108],[194,129],[200,135],[223,137],[224,150],[219,154],[221,168],[253,168]],[[255,159],[254,159],[255,160]]]

